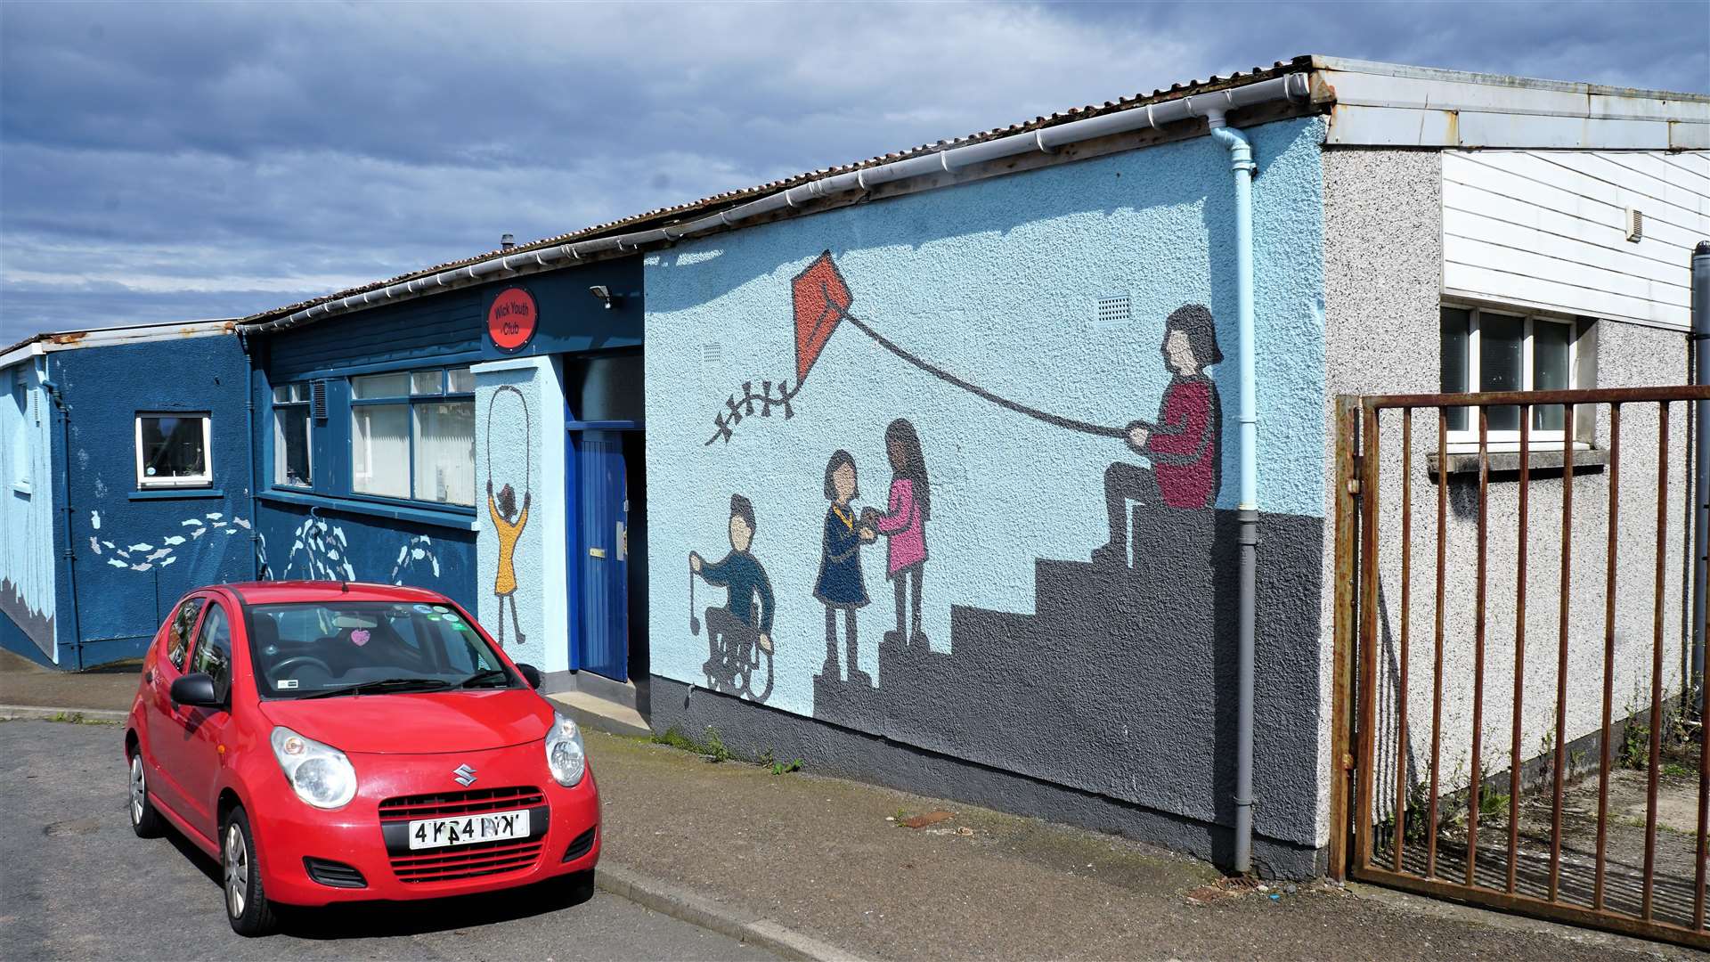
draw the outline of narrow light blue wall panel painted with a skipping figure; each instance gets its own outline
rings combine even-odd
[[[477,618],[503,637],[511,659],[542,671],[568,671],[564,591],[564,389],[559,358],[510,358],[475,368],[475,599]],[[515,389],[515,390],[513,390]],[[516,536],[511,567],[516,591],[494,594],[499,539],[487,505],[487,479],[510,484],[528,519]],[[515,515],[513,515],[515,520]],[[523,642],[516,642],[516,628]]]

